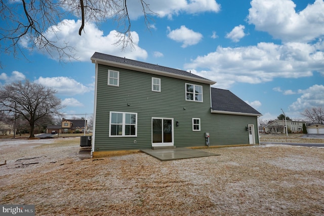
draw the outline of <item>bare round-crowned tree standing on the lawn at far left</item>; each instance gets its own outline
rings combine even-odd
[[[34,137],[36,121],[48,115],[58,114],[63,108],[56,91],[41,84],[25,82],[11,83],[0,88],[0,110],[14,112],[29,123],[29,138]]]

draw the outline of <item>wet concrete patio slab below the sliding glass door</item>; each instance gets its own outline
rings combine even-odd
[[[176,149],[144,149],[141,152],[148,154],[160,161],[180,160],[188,158],[199,158],[208,156],[218,156],[218,154],[204,152],[196,149],[176,148]]]

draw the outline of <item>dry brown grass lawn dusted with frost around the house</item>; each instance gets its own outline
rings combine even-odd
[[[144,153],[80,160],[79,138],[51,140],[16,147],[0,140],[0,163],[7,160],[1,204],[35,204],[36,215],[324,215],[324,148],[203,149],[220,156],[165,162]]]

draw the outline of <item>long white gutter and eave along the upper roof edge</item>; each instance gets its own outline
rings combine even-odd
[[[172,78],[177,78],[177,79],[181,79],[181,80],[188,80],[188,81],[205,83],[205,84],[210,84],[210,85],[214,85],[216,83],[215,81],[211,81],[211,80],[187,77],[184,75],[178,75],[178,74],[168,73],[168,72],[164,72],[164,71],[160,71],[160,70],[148,69],[145,67],[123,64],[123,63],[114,62],[114,61],[107,61],[107,60],[102,60],[102,59],[98,59],[98,58],[91,58],[91,61],[92,61],[92,63],[96,63],[96,64],[103,64],[103,65],[107,65],[107,66],[120,67],[120,68],[130,69],[130,70],[136,69],[137,71],[141,71],[141,72],[148,73],[148,74],[161,75],[161,76],[172,77]],[[157,67],[158,67],[158,65],[157,65]]]

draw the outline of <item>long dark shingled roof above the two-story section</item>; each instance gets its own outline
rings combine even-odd
[[[142,61],[136,61],[136,60],[132,60],[132,59],[128,59],[128,58],[121,58],[121,57],[98,53],[98,52],[95,52],[93,54],[93,56],[91,57],[91,59],[92,60],[98,59],[98,60],[103,60],[103,61],[116,62],[119,64],[126,64],[126,65],[130,65],[130,66],[136,66],[136,67],[141,67],[141,68],[146,68],[146,69],[151,69],[151,70],[158,70],[158,71],[161,71],[164,73],[171,73],[171,74],[176,74],[176,75],[180,75],[180,76],[186,76],[186,77],[190,77],[190,78],[197,78],[197,79],[202,79],[202,80],[206,80],[206,81],[211,81],[209,79],[191,74],[185,70],[174,69],[171,67],[160,66],[157,64],[150,64],[150,63],[146,63],[146,62],[142,62]],[[211,81],[211,82],[214,82],[214,81]]]

